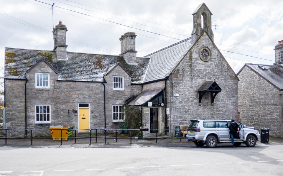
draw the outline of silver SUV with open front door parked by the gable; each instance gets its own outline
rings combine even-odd
[[[202,147],[206,145],[209,148],[216,147],[217,143],[230,142],[229,125],[231,120],[225,119],[195,119],[191,120],[188,127],[187,139],[188,142],[194,141],[195,145]],[[256,141],[259,141],[260,134],[258,131],[250,128],[245,128],[239,121],[240,139],[235,139],[235,146],[245,143],[248,147],[254,147]]]

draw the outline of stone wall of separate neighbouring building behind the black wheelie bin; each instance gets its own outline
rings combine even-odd
[[[238,104],[242,124],[270,128],[270,136],[283,137],[283,91],[245,66],[238,74]]]

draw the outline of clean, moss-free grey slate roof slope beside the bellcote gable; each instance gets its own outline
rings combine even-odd
[[[164,79],[192,46],[191,38],[180,41],[144,57],[150,58],[145,82]]]

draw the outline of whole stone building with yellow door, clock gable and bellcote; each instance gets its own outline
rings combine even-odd
[[[52,51],[5,48],[7,128],[113,128],[124,105],[139,106],[150,129],[237,118],[238,77],[213,42],[212,13],[203,3],[192,15],[190,38],[144,57],[133,32],[121,36],[119,55],[67,52],[61,22]]]

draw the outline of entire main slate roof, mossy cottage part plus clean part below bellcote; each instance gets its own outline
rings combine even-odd
[[[187,38],[137,57],[137,65],[127,64],[119,55],[67,52],[68,60],[57,60],[55,52],[50,50],[5,48],[5,78],[26,79],[26,71],[44,58],[58,71],[58,80],[103,82],[103,75],[119,62],[131,75],[132,83],[146,83],[164,79],[191,46],[191,38]]]

